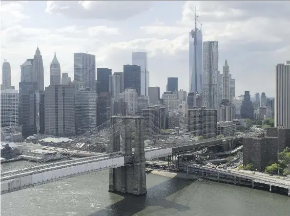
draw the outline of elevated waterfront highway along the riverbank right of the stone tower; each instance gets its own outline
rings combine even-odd
[[[163,166],[168,166],[168,163],[165,161],[146,161],[146,164],[152,164],[152,165],[163,165]],[[276,176],[269,176],[268,174],[265,173],[260,173],[260,172],[253,172],[253,171],[245,171],[245,170],[225,170],[221,168],[212,168],[207,165],[200,165],[200,164],[195,164],[195,163],[182,163],[180,165],[183,169],[186,170],[186,167],[192,167],[196,168],[202,172],[204,171],[210,171],[211,173],[219,173],[223,174],[226,176],[233,176],[233,177],[240,177],[240,178],[245,178],[245,179],[250,179],[252,180],[252,184],[254,182],[256,183],[261,183],[261,184],[267,184],[269,186],[276,186],[276,187],[281,187],[288,189],[288,196],[290,196],[290,179],[288,178],[277,178]],[[252,185],[253,187],[253,185]]]

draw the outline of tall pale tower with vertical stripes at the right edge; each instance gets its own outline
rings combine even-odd
[[[275,81],[275,127],[290,128],[290,61],[276,65]]]

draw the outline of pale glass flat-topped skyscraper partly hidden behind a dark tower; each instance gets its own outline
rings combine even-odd
[[[140,66],[140,94],[141,96],[147,96],[147,53],[133,52],[132,65]]]

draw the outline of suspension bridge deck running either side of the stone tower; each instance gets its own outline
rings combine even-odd
[[[205,139],[195,143],[182,143],[178,145],[159,145],[145,149],[145,158],[151,160],[190,150],[197,150],[206,146],[223,144],[230,140],[241,139],[242,136],[221,139]],[[170,147],[169,147],[170,146]],[[117,168],[132,162],[133,156],[122,156],[122,152],[105,156],[93,156],[69,161],[61,161],[53,164],[44,164],[1,173],[1,194],[22,190],[37,185],[62,180],[65,178],[80,176],[91,172],[97,172],[109,168]]]

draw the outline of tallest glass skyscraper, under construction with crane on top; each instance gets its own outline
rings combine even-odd
[[[189,92],[201,93],[203,84],[203,33],[195,28],[189,33]]]

